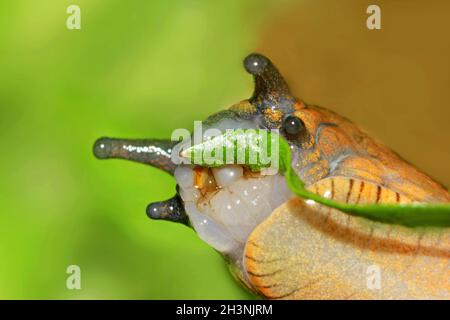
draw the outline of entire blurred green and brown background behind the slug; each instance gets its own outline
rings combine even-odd
[[[368,30],[366,8],[381,8]],[[66,9],[81,8],[81,30]],[[174,179],[98,161],[100,136],[168,138],[251,95],[267,54],[332,109],[450,184],[450,2],[0,2],[0,298],[247,299],[192,230],[150,221]],[[81,290],[66,268],[81,268]]]

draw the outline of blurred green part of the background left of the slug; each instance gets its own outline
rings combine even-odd
[[[167,138],[248,97],[241,61],[274,3],[0,2],[0,298],[252,297],[192,230],[146,217],[172,177],[91,148]]]

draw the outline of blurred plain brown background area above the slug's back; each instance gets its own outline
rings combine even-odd
[[[448,1],[315,0],[267,19],[258,50],[299,98],[366,129],[437,181],[450,185]]]

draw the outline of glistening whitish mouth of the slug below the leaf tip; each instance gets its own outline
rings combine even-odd
[[[181,165],[174,176],[192,227],[230,256],[239,255],[253,229],[291,197],[283,176],[256,174],[238,165]]]

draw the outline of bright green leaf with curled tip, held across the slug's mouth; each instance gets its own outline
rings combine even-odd
[[[249,156],[251,152],[256,152],[259,155],[264,152],[265,155],[270,153],[270,150],[264,150],[264,147],[271,147],[274,141],[278,141],[278,166],[281,174],[286,178],[286,183],[291,191],[303,199],[313,200],[322,205],[341,210],[353,216],[364,217],[370,220],[399,224],[408,227],[450,227],[450,204],[448,203],[416,203],[416,204],[371,204],[371,205],[356,205],[337,202],[331,199],[324,198],[318,194],[308,191],[305,188],[303,181],[291,167],[291,149],[284,138],[278,134],[266,132],[271,143],[267,145],[261,144],[261,139],[255,137],[255,134],[260,134],[262,130],[242,131],[238,130],[228,131],[226,134],[214,137],[213,139],[197,144],[185,150],[183,156],[192,158],[194,153],[202,155],[211,154],[211,149],[220,150],[224,156],[226,148],[232,148],[233,157],[223,161],[220,164],[211,164],[211,161],[206,161],[206,157],[197,158],[198,165],[211,167],[227,164],[242,164],[250,167],[253,171],[261,171],[273,163],[261,162],[262,157],[257,157],[257,161],[250,161]],[[234,141],[234,142],[233,142]],[[236,143],[236,141],[238,141]],[[245,143],[244,143],[245,142]],[[220,153],[219,151],[219,153]],[[228,151],[230,152],[230,151]],[[237,154],[242,152],[245,154],[245,161],[238,162]],[[217,152],[215,153],[217,154]],[[242,159],[242,157],[241,157]],[[275,158],[272,158],[275,159]],[[253,159],[254,160],[254,159]]]

